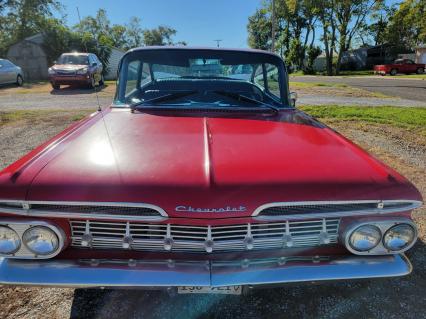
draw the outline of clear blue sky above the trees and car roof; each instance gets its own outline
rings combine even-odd
[[[167,25],[177,30],[174,40],[191,46],[247,47],[247,22],[262,0],[61,0],[68,25],[106,9],[112,24],[139,17],[142,28]]]

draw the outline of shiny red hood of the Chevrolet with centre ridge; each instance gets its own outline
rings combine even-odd
[[[176,116],[112,110],[33,159],[28,200],[142,202],[181,207],[418,199],[403,177],[299,111],[277,116]],[[36,172],[36,173],[35,173]],[[199,217],[217,217],[203,213]]]

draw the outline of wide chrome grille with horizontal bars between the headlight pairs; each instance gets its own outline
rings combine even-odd
[[[227,226],[72,220],[72,246],[140,251],[244,251],[337,242],[339,219]]]

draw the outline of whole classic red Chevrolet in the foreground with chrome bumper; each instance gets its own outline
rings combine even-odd
[[[411,272],[420,193],[294,108],[279,56],[134,49],[118,83],[1,172],[0,284],[240,294]]]

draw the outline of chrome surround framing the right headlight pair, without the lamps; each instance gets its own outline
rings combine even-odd
[[[399,251],[392,251],[392,250],[388,250],[386,249],[386,247],[383,244],[383,237],[385,236],[385,233],[393,226],[399,225],[399,224],[408,224],[411,227],[413,227],[414,231],[415,231],[415,235],[414,235],[414,240],[413,242],[408,245],[407,247],[405,247],[404,249],[401,249]],[[369,250],[369,251],[358,251],[355,250],[351,247],[351,245],[349,245],[349,237],[352,234],[352,232],[357,229],[358,227],[361,227],[363,225],[374,225],[376,227],[378,227],[380,229],[380,233],[382,235],[380,242],[377,244],[376,247],[374,247],[373,249]],[[355,222],[351,225],[349,225],[348,228],[346,228],[344,234],[341,237],[341,241],[345,243],[345,247],[347,250],[349,250],[351,253],[355,254],[355,255],[389,255],[389,254],[400,254],[403,253],[405,251],[407,251],[408,249],[410,249],[411,247],[414,246],[414,244],[417,241],[417,236],[418,236],[418,230],[417,230],[417,226],[414,222],[412,222],[411,220],[407,219],[407,218],[395,218],[395,219],[389,219],[389,220],[371,220],[371,221],[366,221],[366,222]]]

